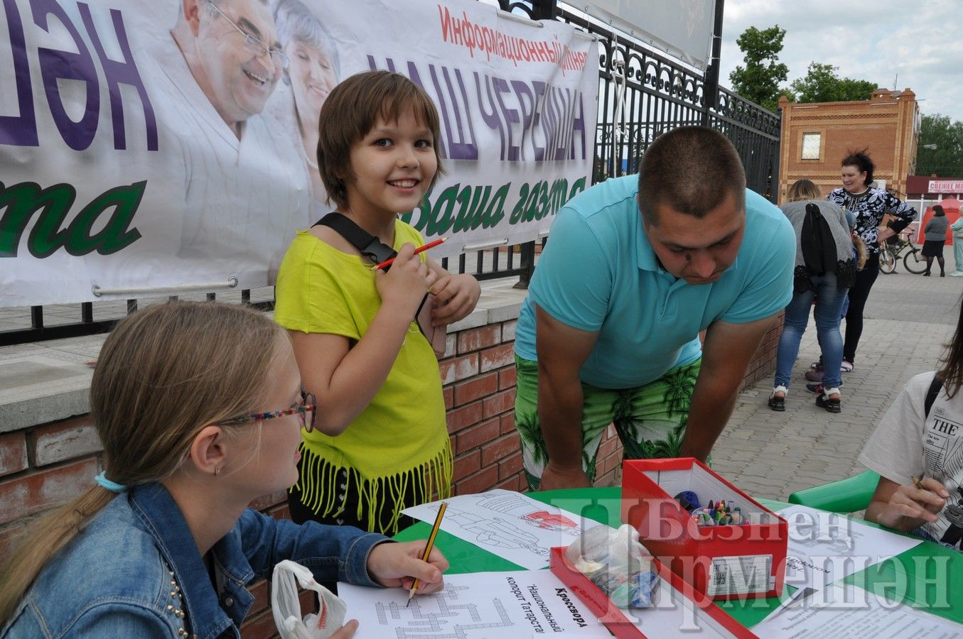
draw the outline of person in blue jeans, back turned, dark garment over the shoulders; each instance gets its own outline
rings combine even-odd
[[[840,318],[856,274],[849,225],[843,210],[821,199],[819,188],[810,180],[795,182],[787,199],[781,209],[793,224],[796,239],[793,299],[785,310],[776,350],[775,382],[768,405],[774,411],[786,410],[790,376],[815,300],[816,330],[825,364],[816,404],[830,413],[839,413],[842,410],[839,387],[843,382]]]

